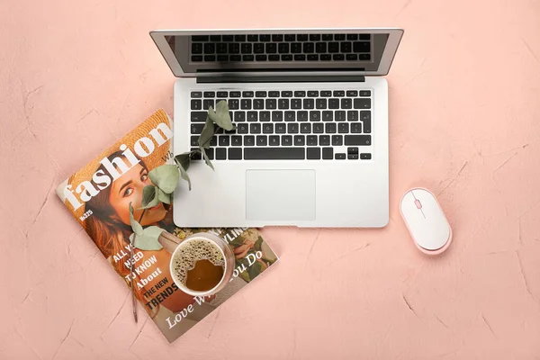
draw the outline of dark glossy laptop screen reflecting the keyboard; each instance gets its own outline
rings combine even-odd
[[[216,33],[166,35],[184,73],[377,71],[388,33]]]

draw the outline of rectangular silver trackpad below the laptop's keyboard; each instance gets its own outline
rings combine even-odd
[[[247,170],[247,220],[315,220],[315,170]]]

